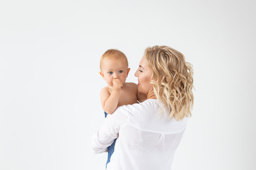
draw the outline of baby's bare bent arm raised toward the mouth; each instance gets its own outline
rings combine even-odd
[[[106,113],[114,113],[118,106],[119,91],[113,89],[110,94],[110,91],[108,91],[107,87],[103,88],[100,91],[100,101],[102,103],[102,108]]]

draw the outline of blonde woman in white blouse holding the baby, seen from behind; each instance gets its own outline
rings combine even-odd
[[[139,68],[142,103],[120,106],[92,137],[95,153],[105,152],[117,138],[110,169],[171,169],[174,152],[193,106],[193,71],[181,52],[167,46],[148,47]]]

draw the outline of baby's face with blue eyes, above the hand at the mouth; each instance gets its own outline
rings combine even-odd
[[[122,84],[126,81],[129,70],[122,59],[104,59],[102,61],[102,78],[108,85],[113,86],[113,79],[119,79]]]

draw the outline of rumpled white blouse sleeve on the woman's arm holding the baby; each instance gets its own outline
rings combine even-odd
[[[92,149],[96,154],[106,152],[107,147],[112,145],[114,139],[118,137],[121,125],[127,120],[126,114],[119,107],[112,115],[107,115],[103,125],[97,129],[91,139]]]

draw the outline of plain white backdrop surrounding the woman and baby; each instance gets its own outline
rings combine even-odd
[[[0,2],[0,169],[105,169],[100,56],[168,45],[194,67],[176,170],[255,169],[255,1]],[[161,168],[159,168],[161,169]]]

